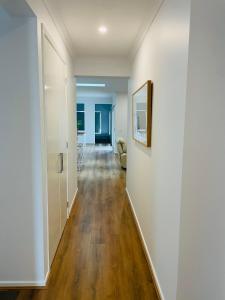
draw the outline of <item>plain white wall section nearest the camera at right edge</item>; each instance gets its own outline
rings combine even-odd
[[[224,1],[192,1],[178,300],[225,299],[224,20]]]

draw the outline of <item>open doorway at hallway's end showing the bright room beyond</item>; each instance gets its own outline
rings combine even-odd
[[[77,77],[78,171],[87,162],[87,153],[112,152],[126,169],[128,78]]]

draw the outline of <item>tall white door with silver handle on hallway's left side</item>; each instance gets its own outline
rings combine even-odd
[[[45,34],[43,68],[51,264],[67,219],[66,94],[65,65]]]

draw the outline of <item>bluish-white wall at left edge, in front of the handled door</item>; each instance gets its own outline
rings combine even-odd
[[[0,285],[43,284],[36,19],[0,20]]]

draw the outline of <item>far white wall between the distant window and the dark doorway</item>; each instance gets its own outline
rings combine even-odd
[[[112,98],[77,97],[77,103],[85,106],[85,142],[95,144],[95,104],[112,104]]]

